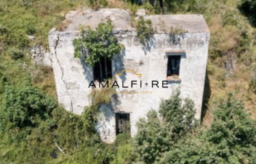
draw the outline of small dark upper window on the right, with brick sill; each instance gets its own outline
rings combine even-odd
[[[181,64],[181,56],[168,56],[168,64],[167,64],[167,77],[171,77],[173,75],[179,76],[179,65]]]

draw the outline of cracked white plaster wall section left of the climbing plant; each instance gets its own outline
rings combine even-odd
[[[73,39],[77,36],[77,31],[50,32],[49,46],[58,101],[67,110],[81,114],[89,105],[87,85],[92,79],[92,70],[81,59],[74,58]]]

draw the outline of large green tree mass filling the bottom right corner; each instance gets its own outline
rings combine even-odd
[[[242,102],[229,94],[216,102],[212,126],[181,140],[159,164],[255,163],[255,127]]]

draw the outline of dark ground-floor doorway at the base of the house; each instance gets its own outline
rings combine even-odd
[[[130,133],[130,114],[116,113],[116,135]]]

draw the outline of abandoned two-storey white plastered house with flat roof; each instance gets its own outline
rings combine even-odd
[[[209,29],[203,16],[146,15],[144,10],[139,10],[136,16],[152,21],[154,34],[147,46],[138,39],[129,12],[120,9],[69,12],[68,27],[49,32],[49,57],[58,101],[67,110],[81,114],[90,105],[88,95],[93,89],[88,86],[99,79],[101,70],[99,64],[91,67],[74,57],[73,40],[79,37],[79,25],[95,28],[101,21],[112,20],[113,33],[125,49],[107,61],[104,68],[110,73],[106,76],[116,76],[120,86],[116,92],[135,94],[116,94],[111,105],[101,105],[97,130],[106,142],[114,141],[124,124],[130,125],[131,136],[136,135],[136,122],[149,110],[157,110],[161,99],[169,98],[178,87],[182,98],[194,100],[196,118],[201,117],[209,45]],[[170,35],[170,27],[179,27],[184,32]],[[131,87],[131,83],[136,85]]]

